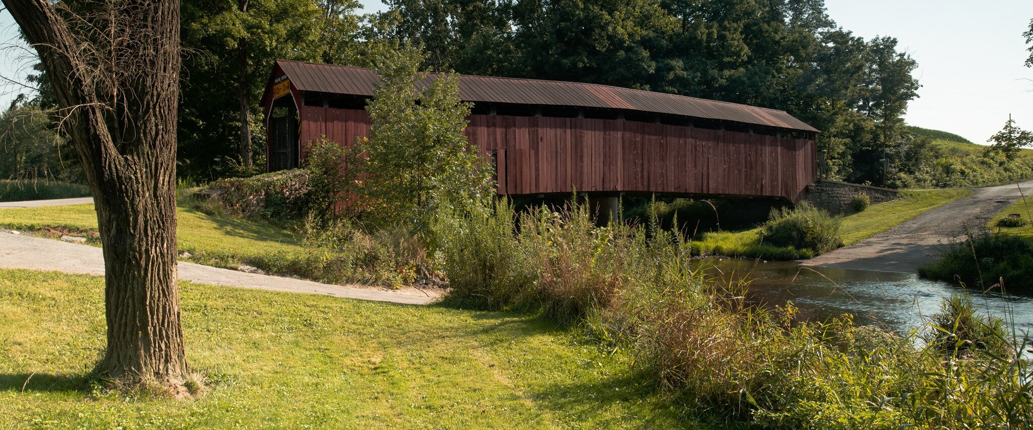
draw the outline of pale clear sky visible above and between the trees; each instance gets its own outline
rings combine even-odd
[[[362,0],[379,10],[378,0]],[[889,35],[918,61],[914,76],[922,88],[911,102],[908,124],[961,134],[983,142],[1010,113],[1033,129],[1033,69],[1022,37],[1033,19],[1033,1],[989,0],[826,0],[840,26],[866,38]],[[24,47],[6,10],[0,12],[0,76],[24,81]],[[18,86],[0,82],[0,107]]]

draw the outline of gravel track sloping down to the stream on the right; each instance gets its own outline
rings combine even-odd
[[[1020,184],[1031,198],[1033,180]],[[941,246],[965,229],[979,231],[1002,209],[1021,198],[1014,184],[972,189],[975,194],[922,213],[888,231],[850,246],[807,260],[805,266],[914,273],[936,261]]]

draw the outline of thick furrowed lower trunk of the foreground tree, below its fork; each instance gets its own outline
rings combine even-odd
[[[170,106],[175,119],[171,99],[159,104]],[[178,390],[188,368],[176,283],[176,122],[165,124],[156,135],[140,136],[161,151],[102,169],[105,179],[94,192],[107,321],[107,350],[98,370],[131,384],[157,379]]]

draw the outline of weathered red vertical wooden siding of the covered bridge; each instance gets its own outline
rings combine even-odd
[[[815,142],[620,120],[470,115],[465,134],[496,153],[499,194],[629,192],[803,198]],[[302,106],[303,142],[350,146],[365,110]]]

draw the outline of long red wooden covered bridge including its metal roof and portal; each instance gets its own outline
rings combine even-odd
[[[433,75],[428,79],[433,78]],[[373,71],[277,61],[262,97],[269,171],[321,136],[367,136]],[[518,196],[769,197],[796,202],[817,173],[816,129],[781,111],[591,84],[460,77],[465,134]]]

